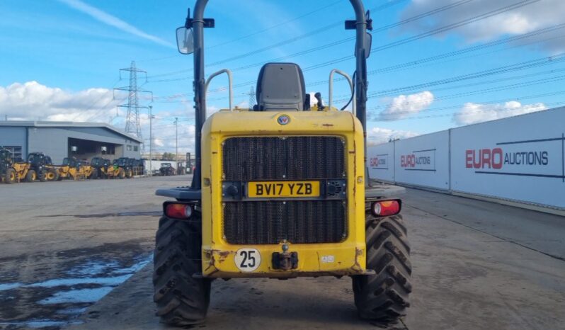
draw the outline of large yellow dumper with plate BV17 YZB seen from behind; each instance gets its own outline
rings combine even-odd
[[[207,2],[176,31],[179,51],[193,54],[196,166],[189,188],[156,191],[173,199],[156,232],[157,314],[176,326],[204,322],[219,278],[349,276],[359,316],[394,322],[409,307],[410,247],[394,197],[404,188],[372,183],[366,164],[372,20],[363,2],[350,0],[355,20],[345,22],[356,36],[354,79],[331,70],[328,106],[320,93],[310,106],[297,64],[267,63],[253,109],[232,106],[228,69],[205,79],[204,28],[215,27]],[[207,86],[222,73],[229,109],[207,118]],[[332,106],[334,74],[350,85],[350,110]]]

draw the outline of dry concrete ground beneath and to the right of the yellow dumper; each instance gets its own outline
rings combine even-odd
[[[413,294],[398,324],[358,319],[350,278],[215,280],[202,329],[565,329],[565,219],[408,190]],[[149,264],[72,329],[159,323]]]

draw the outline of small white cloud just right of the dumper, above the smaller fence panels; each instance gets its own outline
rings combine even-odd
[[[381,120],[398,120],[420,112],[433,102],[433,93],[423,91],[411,95],[399,95],[392,99],[386,110],[379,114]]]

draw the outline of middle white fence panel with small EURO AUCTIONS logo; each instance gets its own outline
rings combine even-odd
[[[397,183],[448,190],[449,131],[395,141]]]

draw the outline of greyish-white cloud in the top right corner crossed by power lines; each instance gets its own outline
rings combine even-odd
[[[455,4],[456,0],[413,0],[411,4],[401,13],[401,19],[411,18],[421,13],[440,8],[448,4]],[[516,0],[474,0],[461,6],[455,6],[446,11],[436,13],[428,18],[416,20],[403,26],[403,30],[421,33],[433,30],[445,25],[464,21],[474,16],[479,16],[499,8],[518,4]],[[565,1],[544,0],[518,8],[498,13],[489,18],[481,19],[467,25],[462,25],[454,30],[439,34],[441,38],[447,33],[462,35],[467,42],[481,42],[495,40],[503,35],[518,35],[531,32],[540,28],[563,23],[565,16]],[[561,35],[557,30],[553,36]],[[544,40],[549,35],[540,35],[538,40]],[[529,39],[528,41],[531,41]],[[565,45],[560,39],[552,39],[542,42],[543,47],[553,52],[565,50]]]

